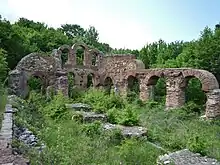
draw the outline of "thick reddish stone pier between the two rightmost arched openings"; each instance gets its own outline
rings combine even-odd
[[[166,109],[180,108],[185,103],[184,78],[169,77],[166,80]]]

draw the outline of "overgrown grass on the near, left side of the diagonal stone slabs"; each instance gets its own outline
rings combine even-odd
[[[34,94],[15,120],[47,145],[40,155],[29,153],[32,164],[156,164],[156,158],[163,153],[147,139],[122,139],[117,130],[103,132],[99,122],[81,124],[72,120],[69,111],[60,111],[65,104],[61,95],[48,102],[42,100]],[[56,112],[63,115],[54,115]]]

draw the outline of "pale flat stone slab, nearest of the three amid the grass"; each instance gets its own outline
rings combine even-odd
[[[104,130],[120,129],[124,137],[142,137],[147,135],[147,129],[138,126],[128,127],[128,126],[105,123],[103,124],[103,128]]]

